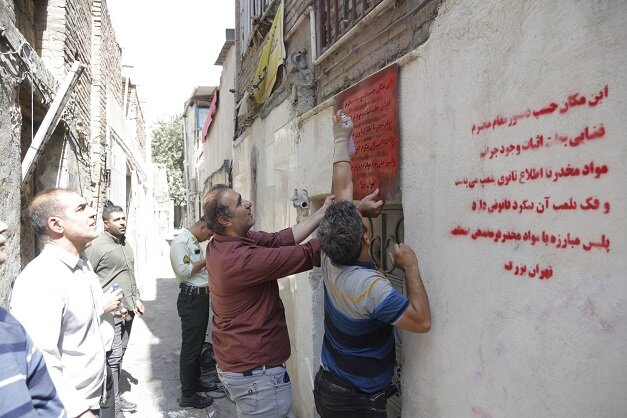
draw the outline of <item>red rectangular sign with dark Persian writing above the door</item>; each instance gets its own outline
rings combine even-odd
[[[336,107],[353,119],[355,199],[376,188],[382,199],[398,198],[398,71],[398,64],[391,65],[335,98]]]

